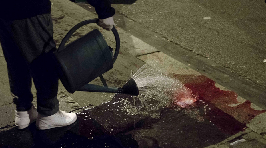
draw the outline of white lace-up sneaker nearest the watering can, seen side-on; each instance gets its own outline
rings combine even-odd
[[[47,116],[39,113],[36,127],[37,129],[51,129],[55,127],[67,126],[74,123],[77,120],[75,113],[66,113],[65,111],[59,110],[57,113]]]

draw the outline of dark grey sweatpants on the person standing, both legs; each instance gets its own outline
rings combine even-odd
[[[18,111],[31,107],[31,78],[37,90],[37,111],[53,115],[59,110],[57,100],[57,62],[50,14],[22,20],[0,18],[0,42],[7,62],[13,102]]]

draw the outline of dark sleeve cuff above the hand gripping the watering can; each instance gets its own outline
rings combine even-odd
[[[115,9],[111,7],[111,3],[109,0],[87,0],[89,4],[91,4],[96,13],[99,16],[99,19],[106,19],[108,17],[112,17],[115,15]]]

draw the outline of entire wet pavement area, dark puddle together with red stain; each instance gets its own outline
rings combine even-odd
[[[0,147],[182,147],[203,148],[243,131],[258,111],[246,101],[236,107],[237,94],[223,91],[205,76],[175,76],[197,95],[187,108],[168,106],[147,111],[132,96],[116,94],[112,101],[77,113],[73,125],[37,130],[15,128],[0,133]],[[240,111],[241,110],[241,111]]]

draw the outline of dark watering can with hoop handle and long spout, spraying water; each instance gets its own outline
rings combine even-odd
[[[117,88],[107,86],[102,75],[113,68],[119,53],[120,39],[115,27],[112,29],[116,42],[114,53],[113,48],[107,45],[103,35],[97,29],[65,46],[67,40],[77,29],[90,23],[97,23],[97,21],[98,19],[82,21],[70,29],[63,38],[58,50],[54,52],[59,65],[59,79],[69,93],[75,91],[113,92],[137,96],[139,90],[132,78],[122,88]],[[89,84],[97,77],[101,78],[103,86]]]

